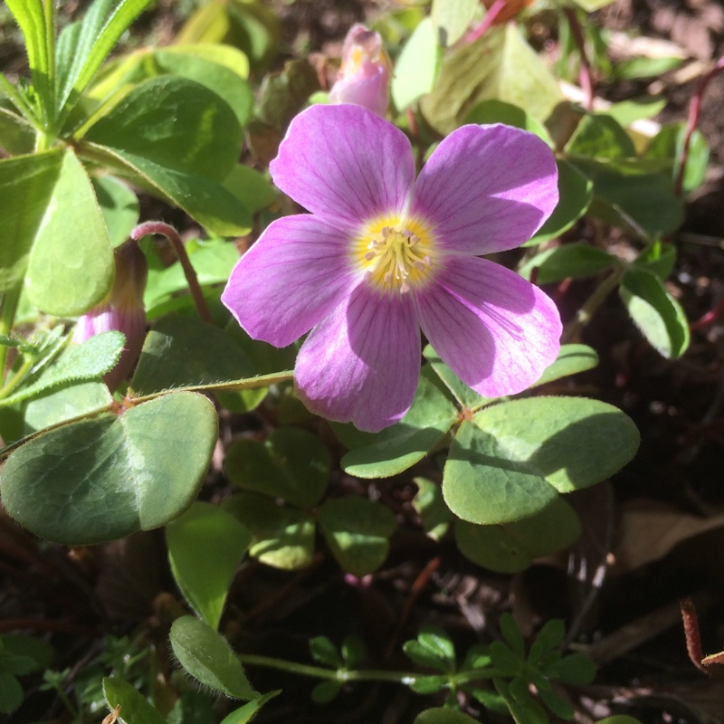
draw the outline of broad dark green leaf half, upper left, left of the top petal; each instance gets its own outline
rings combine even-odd
[[[214,91],[186,78],[159,76],[139,83],[84,140],[122,157],[221,182],[237,163],[242,128]]]

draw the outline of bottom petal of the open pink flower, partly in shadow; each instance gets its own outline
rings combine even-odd
[[[420,329],[410,296],[360,284],[312,329],[295,380],[313,413],[376,433],[410,408],[419,369]]]

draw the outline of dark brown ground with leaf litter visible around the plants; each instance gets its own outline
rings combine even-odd
[[[369,17],[376,5],[387,6],[351,0],[274,5],[289,52],[304,47],[330,53],[338,52],[349,24]],[[724,52],[724,10],[718,2],[620,0],[597,17],[614,30],[672,40],[691,60],[710,62]],[[142,22],[148,36],[169,39],[178,24],[176,4],[159,2],[156,13]],[[22,60],[16,46],[13,52],[13,38],[3,38],[0,62],[17,71]],[[650,82],[622,88],[603,80],[610,100],[641,94]],[[669,104],[660,120],[685,119],[697,81],[663,80]],[[724,298],[723,101],[724,73],[710,84],[700,120],[712,152],[709,180],[692,197],[686,223],[671,240],[680,256],[670,288],[692,321]],[[592,283],[577,282],[559,294],[564,316],[586,299]],[[296,575],[248,564],[228,606],[225,633],[233,645],[307,662],[310,636],[339,641],[354,632],[367,641],[371,665],[405,668],[401,654],[389,651],[399,652],[399,644],[420,624],[445,626],[463,647],[478,633],[489,639],[500,613],[512,608],[528,631],[550,616],[566,619],[576,643],[600,664],[595,685],[570,692],[580,706],[580,722],[627,713],[644,724],[724,723],[724,683],[688,661],[678,611],[682,596],[695,595],[705,653],[724,648],[724,323],[716,319],[695,331],[691,349],[671,362],[643,341],[612,296],[583,339],[598,350],[602,363],[568,383],[567,392],[620,406],[639,426],[643,442],[636,459],[613,481],[571,496],[585,534],[569,555],[541,561],[518,576],[491,575],[462,559],[452,543],[437,548],[424,538],[410,509],[413,489],[392,483],[382,493],[409,525],[401,526],[390,560],[374,581],[351,585],[328,557]],[[240,424],[235,418],[233,423]],[[5,619],[0,632],[9,619],[42,618],[55,632],[59,668],[90,657],[103,633],[129,633],[138,624],[164,651],[176,606],[169,594],[176,593],[161,535],[69,553],[38,546],[6,519],[0,522]],[[433,557],[438,559],[432,569]],[[423,705],[400,688],[360,685],[319,709],[300,705],[308,701],[307,680],[263,670],[250,676],[259,691],[283,690],[260,722],[391,724],[412,721]],[[57,714],[52,697],[43,695],[13,721]]]

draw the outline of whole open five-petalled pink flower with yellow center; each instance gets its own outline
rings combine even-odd
[[[538,137],[463,126],[415,180],[402,131],[358,106],[313,106],[292,120],[271,176],[311,214],[270,224],[222,300],[277,347],[311,330],[295,382],[312,412],[371,432],[398,421],[420,328],[485,396],[526,389],[556,358],[553,302],[477,256],[526,242],[556,206],[556,163]]]

